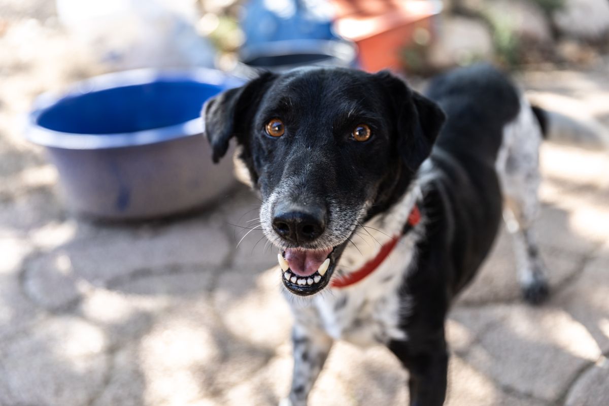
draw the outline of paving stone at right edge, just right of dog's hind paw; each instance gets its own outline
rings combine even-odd
[[[582,275],[552,299],[582,323],[599,348],[609,352],[609,243],[598,251]]]

